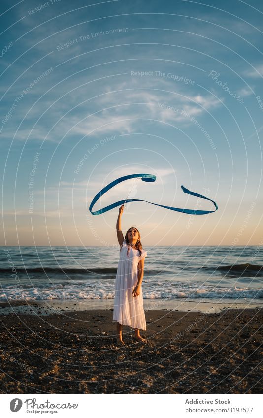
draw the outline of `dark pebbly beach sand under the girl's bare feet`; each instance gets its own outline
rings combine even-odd
[[[1,392],[261,393],[262,312],[148,311],[122,348],[112,310],[1,315]]]

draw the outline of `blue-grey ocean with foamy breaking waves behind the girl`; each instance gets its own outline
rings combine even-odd
[[[145,299],[262,302],[263,248],[147,247]],[[0,247],[0,300],[113,299],[119,246]]]

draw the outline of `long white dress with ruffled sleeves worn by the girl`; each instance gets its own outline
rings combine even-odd
[[[127,250],[129,256],[127,256]],[[124,240],[120,250],[120,259],[115,281],[115,299],[113,309],[113,320],[122,325],[132,328],[139,328],[146,331],[146,320],[143,310],[142,291],[139,296],[133,296],[132,291],[138,282],[139,260],[147,256],[145,250],[142,254],[136,249],[128,246]]]

